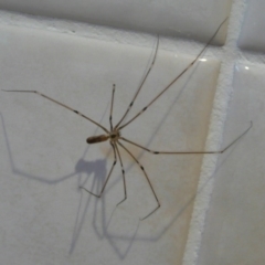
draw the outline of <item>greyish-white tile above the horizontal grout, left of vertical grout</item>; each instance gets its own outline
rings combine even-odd
[[[0,0],[0,8],[205,42],[227,17],[231,0]]]

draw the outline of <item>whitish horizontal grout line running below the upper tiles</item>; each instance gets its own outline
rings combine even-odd
[[[230,18],[226,44],[224,46],[210,45],[206,49],[205,56],[224,62],[231,61],[231,56],[233,56],[234,61],[237,60],[242,63],[264,64],[265,55],[263,53],[241,51],[236,46],[236,40],[239,39],[241,32],[240,28],[243,21],[245,1],[246,0],[234,0],[235,3],[237,2],[237,4],[234,3],[234,6],[241,6],[242,11],[240,13],[242,14],[242,18],[237,19],[236,21],[232,21],[234,20],[233,17]],[[239,12],[239,10],[236,11]],[[240,14],[235,12],[234,17],[240,17]],[[144,32],[126,31],[103,25],[93,25],[84,22],[30,15],[3,10],[0,10],[0,25],[22,26],[25,29],[67,34],[75,38],[92,38],[120,44],[145,46],[148,49],[153,47],[153,43],[156,42],[155,39],[157,38],[153,34]],[[200,51],[200,49],[202,49],[205,44],[198,41],[170,36],[161,36],[160,39],[160,50],[184,53],[191,56],[195,56],[198,54],[198,51]],[[232,51],[231,54],[230,51]]]

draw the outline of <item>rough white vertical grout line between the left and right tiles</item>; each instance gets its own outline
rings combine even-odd
[[[223,49],[223,59],[206,140],[206,147],[211,147],[211,149],[218,149],[221,146],[229,103],[233,93],[234,65],[239,61],[244,61],[236,42],[241,33],[245,9],[246,0],[234,0],[230,14],[227,36]],[[214,187],[214,172],[218,157],[219,156],[205,156],[203,158],[190,231],[183,255],[184,265],[195,265],[198,263],[206,211],[210,206],[211,194]]]

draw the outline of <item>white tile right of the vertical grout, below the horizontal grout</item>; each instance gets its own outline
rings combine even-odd
[[[220,159],[202,237],[201,265],[265,261],[264,70],[247,64],[235,67],[224,142],[247,127],[250,120],[253,127]]]

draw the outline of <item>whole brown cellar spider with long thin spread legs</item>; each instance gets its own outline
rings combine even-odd
[[[86,139],[87,144],[92,145],[92,144],[97,144],[97,142],[102,142],[102,141],[107,141],[109,140],[109,144],[112,146],[112,149],[113,149],[113,153],[114,153],[114,162],[113,162],[113,166],[107,174],[107,178],[105,180],[105,182],[103,183],[103,187],[102,187],[102,190],[98,194],[87,190],[86,188],[84,187],[80,187],[81,189],[84,189],[85,191],[87,191],[89,194],[96,197],[96,198],[100,198],[106,186],[107,186],[107,182],[112,176],[112,172],[114,170],[114,167],[116,166],[116,162],[118,160],[119,165],[120,165],[120,169],[121,169],[121,176],[123,176],[123,183],[124,183],[124,199],[117,204],[119,205],[121,202],[124,202],[126,199],[127,199],[127,190],[126,190],[126,179],[125,179],[125,170],[124,170],[124,163],[123,163],[123,159],[121,159],[121,156],[120,156],[120,151],[119,151],[119,148],[124,149],[131,158],[132,160],[138,165],[138,167],[141,169],[151,191],[152,191],[152,194],[157,201],[157,205],[153,210],[151,210],[147,215],[145,215],[142,219],[140,219],[141,221],[147,219],[148,216],[150,216],[152,213],[155,213],[159,208],[160,208],[160,202],[159,202],[159,199],[156,194],[156,191],[151,184],[151,181],[145,170],[145,168],[142,167],[142,165],[138,161],[138,159],[132,155],[132,152],[127,148],[125,147],[120,141],[126,141],[128,142],[129,145],[132,145],[132,146],[136,146],[137,148],[140,148],[140,149],[144,149],[145,151],[148,151],[150,153],[153,153],[153,155],[203,155],[203,153],[222,153],[224,152],[225,150],[227,150],[231,146],[233,146],[240,138],[242,138],[248,130],[250,128],[252,127],[252,123],[250,125],[250,127],[243,131],[236,139],[234,139],[230,145],[227,145],[225,148],[221,149],[221,150],[216,150],[216,151],[158,151],[158,150],[151,150],[151,149],[148,149],[135,141],[131,141],[125,137],[121,136],[121,130],[127,127],[129,124],[131,124],[136,118],[138,118],[141,114],[144,114],[148,107],[150,107],[166,91],[168,91],[189,68],[191,68],[191,66],[199,60],[199,57],[202,55],[202,53],[205,51],[205,49],[210,45],[210,43],[213,41],[213,39],[215,38],[215,35],[218,34],[220,28],[224,24],[224,22],[227,20],[227,18],[219,25],[219,28],[216,29],[216,31],[214,32],[214,34],[212,35],[212,38],[208,41],[208,43],[204,45],[204,47],[201,50],[201,52],[197,55],[197,57],[178,75],[176,76],[158,95],[156,95],[140,112],[138,112],[135,116],[132,116],[132,118],[130,118],[128,121],[125,121],[125,118],[127,117],[128,113],[130,112],[136,98],[138,97],[148,75],[150,74],[155,63],[156,63],[156,59],[157,59],[157,53],[158,53],[158,46],[159,46],[159,38],[157,40],[157,44],[156,44],[156,50],[155,50],[155,54],[153,54],[153,57],[152,57],[152,61],[151,61],[151,64],[147,71],[147,73],[145,74],[138,89],[136,91],[134,97],[132,97],[132,100],[130,102],[129,106],[127,107],[126,112],[124,113],[124,115],[121,116],[120,120],[114,126],[113,125],[113,108],[114,108],[114,96],[115,96],[115,84],[113,85],[113,92],[112,92],[112,102],[110,102],[110,112],[109,112],[109,129],[105,128],[104,126],[102,126],[100,124],[98,124],[97,121],[91,119],[89,117],[85,116],[84,114],[80,113],[78,110],[75,110],[68,106],[66,106],[65,104],[63,103],[60,103],[38,91],[19,91],[19,89],[11,89],[11,91],[6,91],[3,89],[4,92],[19,92],[19,93],[34,93],[39,96],[42,96],[57,105],[61,105],[62,107],[64,108],[67,108],[72,112],[74,112],[75,114],[77,114],[78,116],[89,120],[91,123],[93,123],[94,125],[96,125],[97,127],[99,127],[102,130],[105,131],[104,135],[99,135],[99,136],[92,136],[92,137],[88,137]]]

